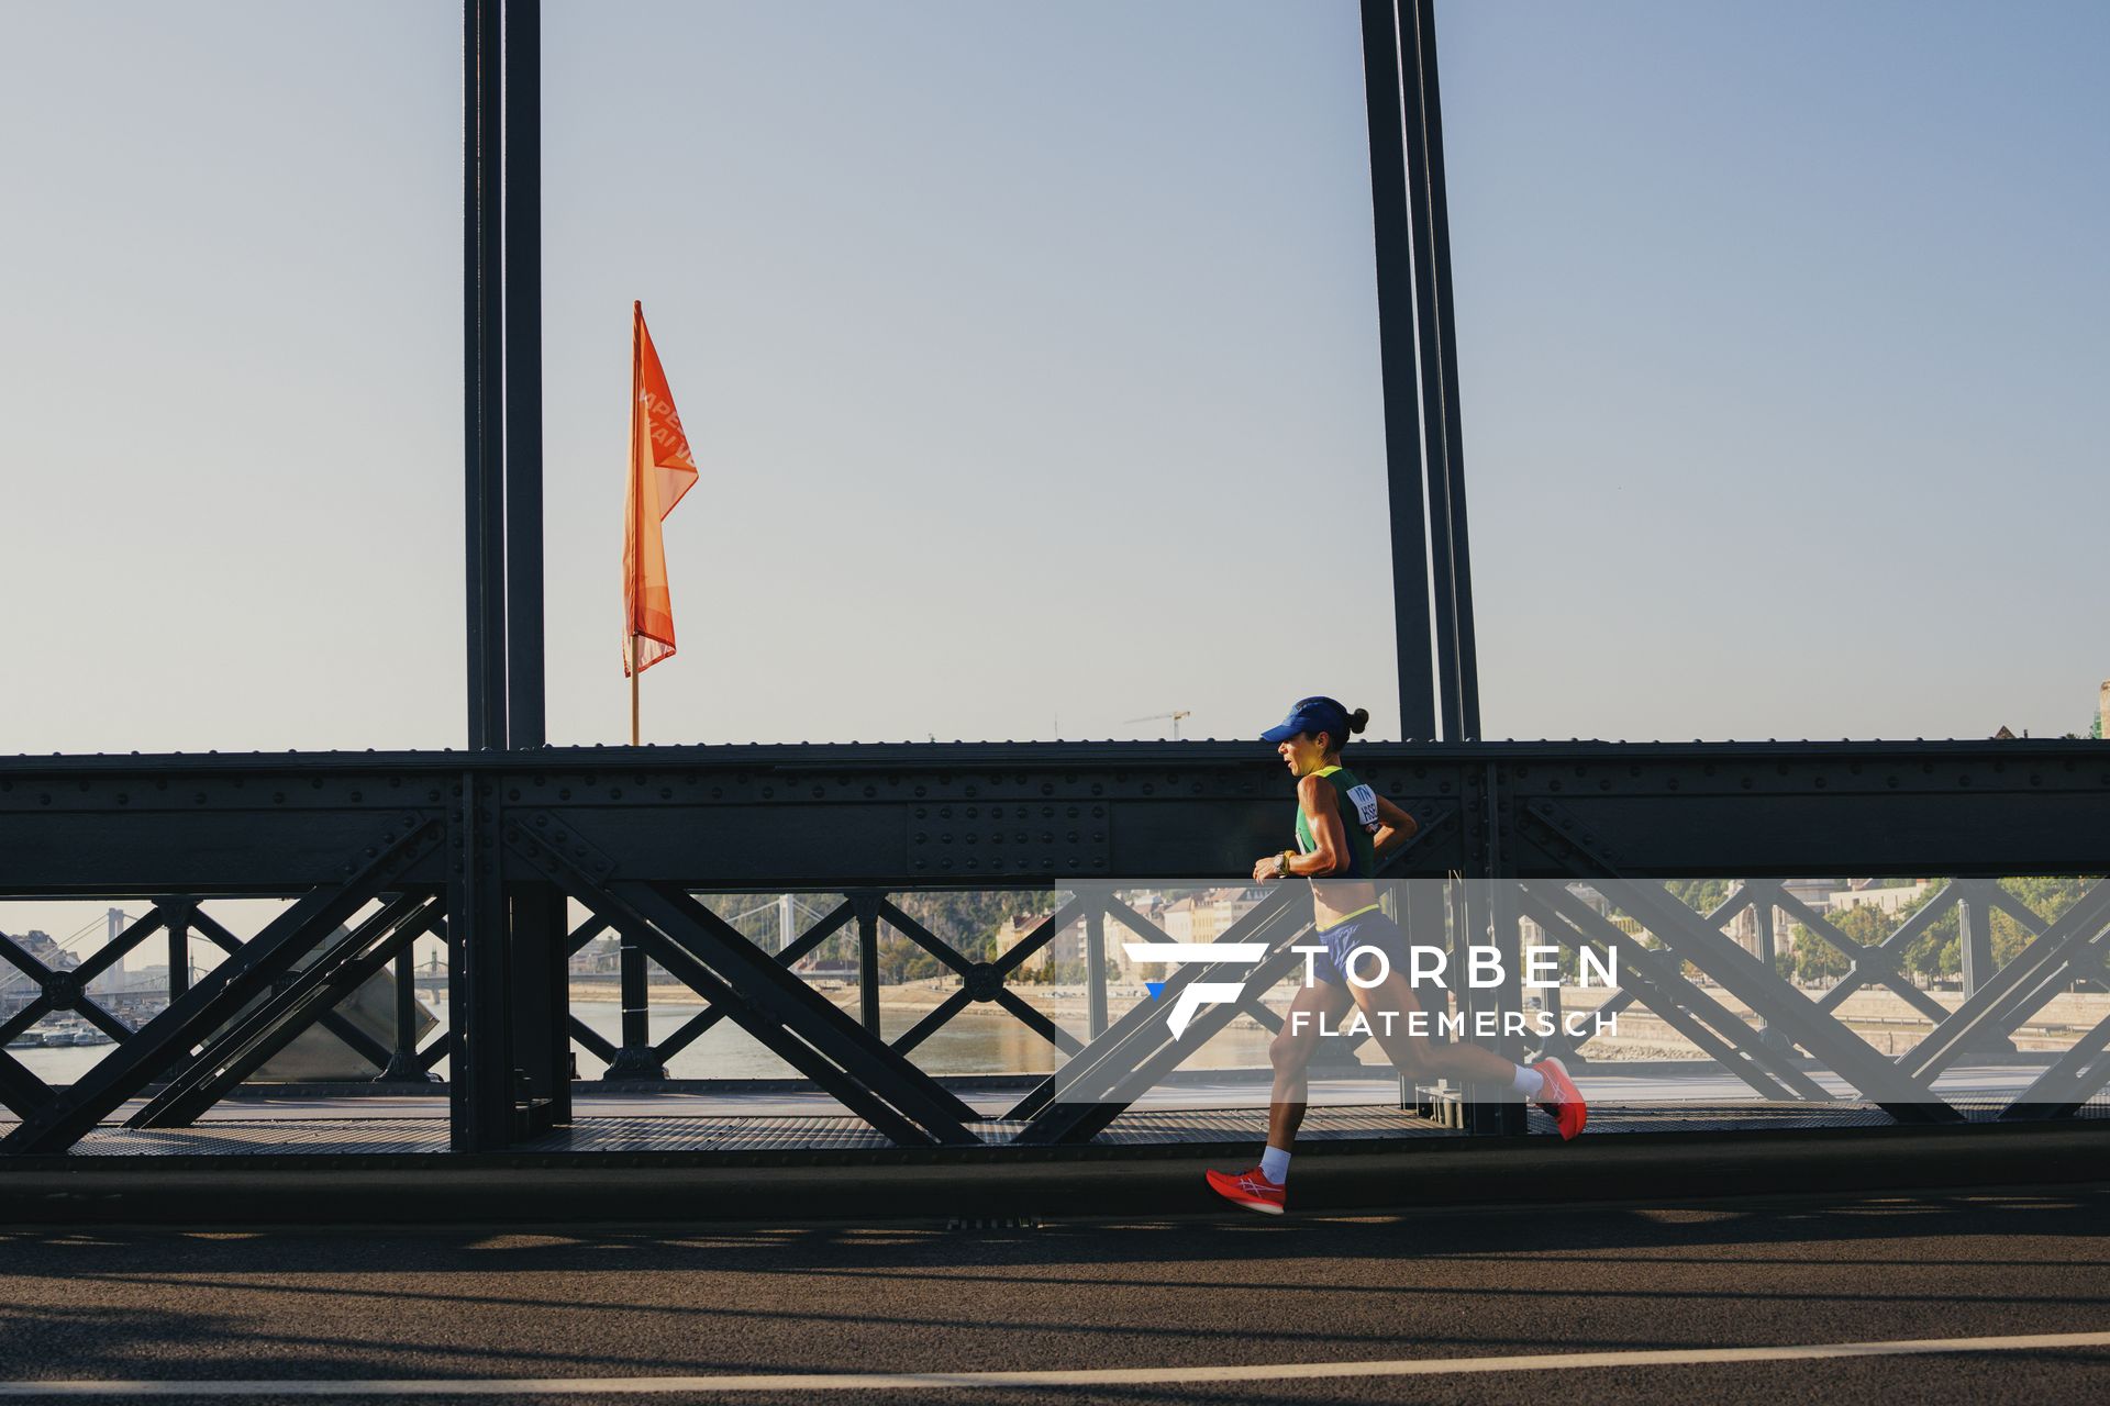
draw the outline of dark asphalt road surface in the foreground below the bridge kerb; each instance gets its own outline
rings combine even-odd
[[[19,1229],[0,1324],[6,1400],[2047,1406],[2110,1400],[2110,1185],[1013,1229]],[[1490,1358],[1526,1362],[1469,1370]],[[1063,1376],[869,1381],[1019,1370]],[[540,1393],[580,1379],[601,1385]]]

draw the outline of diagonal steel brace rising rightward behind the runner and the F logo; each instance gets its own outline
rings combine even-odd
[[[1418,807],[1414,812],[1414,837],[1388,856],[1386,868],[1397,868],[1416,847],[1435,841],[1458,820],[1456,807]],[[1148,927],[1127,904],[1110,902],[1108,911],[1123,925]],[[1247,991],[1268,991],[1283,978],[1298,972],[1304,957],[1289,951],[1310,932],[1312,911],[1306,885],[1281,885],[1268,894],[1260,906],[1217,934],[1224,944],[1266,946],[1260,965],[1247,963],[1188,963],[1173,972],[1158,997],[1137,1001],[1104,1035],[1093,1039],[1055,1075],[1032,1088],[1009,1113],[1023,1117],[1019,1145],[1089,1143],[1104,1132],[1120,1113],[1135,1102],[1137,1090],[1146,1090],[1194,1050],[1228,1027],[1243,1010],[1239,1001],[1224,1001],[1201,1008],[1184,1035],[1171,1033],[1171,1012],[1177,997],[1194,982],[1243,984]],[[1142,936],[1142,932],[1137,932]]]

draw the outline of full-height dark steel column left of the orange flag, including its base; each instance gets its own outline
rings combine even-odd
[[[468,748],[544,742],[540,0],[462,4],[462,432]],[[570,1117],[565,909],[500,885],[500,797],[466,790],[449,885],[454,1140],[502,1147]],[[481,824],[479,824],[481,822]],[[528,1117],[519,1117],[528,1111]]]

